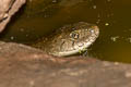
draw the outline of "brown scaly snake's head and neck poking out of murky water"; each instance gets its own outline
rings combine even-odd
[[[79,22],[61,27],[53,35],[35,44],[34,47],[57,57],[71,55],[88,48],[98,35],[99,29],[96,25]]]

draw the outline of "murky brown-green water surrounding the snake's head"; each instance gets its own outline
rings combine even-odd
[[[32,0],[1,34],[5,41],[31,44],[64,24],[97,24],[100,36],[88,55],[131,63],[131,0]]]

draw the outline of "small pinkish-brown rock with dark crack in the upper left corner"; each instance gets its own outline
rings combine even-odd
[[[0,32],[11,20],[11,16],[25,3],[26,0],[1,0],[0,2]]]

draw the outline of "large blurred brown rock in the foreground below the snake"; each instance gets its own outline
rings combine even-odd
[[[131,87],[131,65],[94,58],[56,58],[0,41],[0,87]]]

